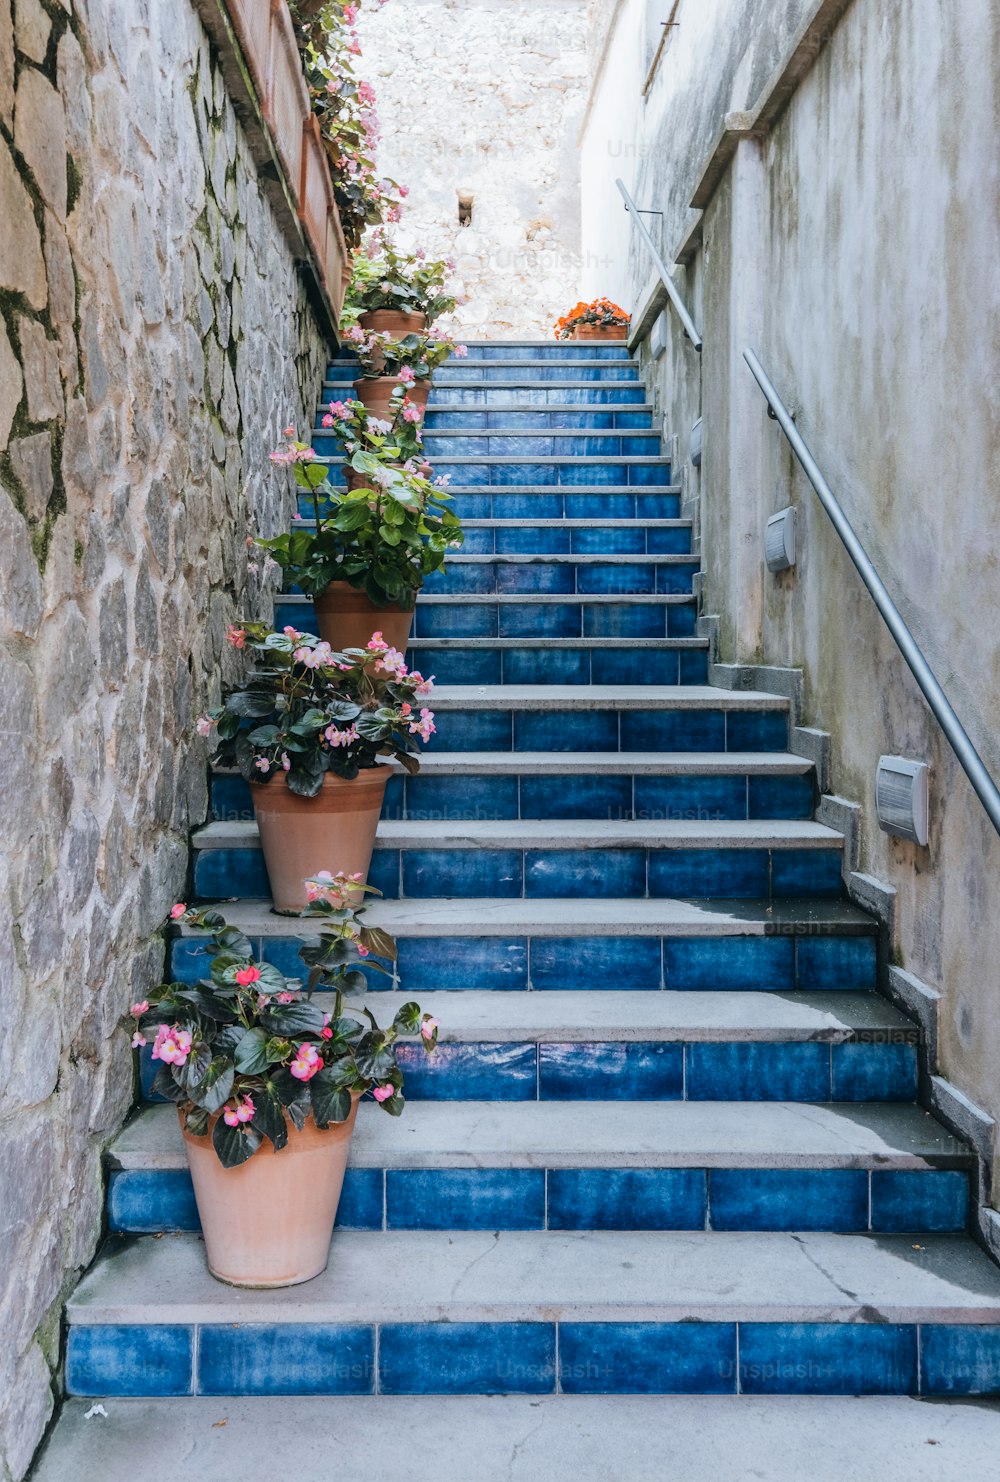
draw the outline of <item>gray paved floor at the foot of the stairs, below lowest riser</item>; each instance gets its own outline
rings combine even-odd
[[[996,1400],[116,1399],[87,1420],[90,1405],[67,1402],[34,1482],[274,1482],[274,1457],[295,1457],[295,1482],[975,1482],[1000,1451]]]

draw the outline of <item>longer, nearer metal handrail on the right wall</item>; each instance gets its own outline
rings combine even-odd
[[[761,366],[760,360],[757,359],[753,350],[744,350],[744,360],[750,366],[754,379],[757,381],[757,385],[764,393],[767,406],[770,408],[770,415],[773,416],[773,419],[778,422],[782,433],[788,439],[791,451],[801,464],[806,479],[809,479],[809,483],[816,491],[819,502],[830,516],[833,528],[836,529],[837,535],[844,544],[847,554],[855,563],[858,575],[861,576],[865,587],[871,593],[873,602],[879,608],[879,612],[881,614],[886,627],[896,640],[896,648],[899,649],[904,659],[910,665],[913,677],[920,685],[924,700],[930,705],[930,710],[933,711],[938,725],[948,738],[951,750],[959,759],[959,765],[961,766],[966,777],[972,782],[979,802],[987,811],[990,823],[1000,834],[1000,788],[997,788],[997,784],[987,771],[985,762],[982,760],[975,745],[972,744],[969,732],[954,713],[951,701],[941,688],[936,674],[927,664],[927,659],[923,657],[920,645],[917,643],[913,633],[904,622],[899,609],[889,596],[886,584],[883,582],[881,576],[873,566],[868,553],[865,551],[864,545],[858,539],[858,535],[855,534],[853,526],[850,525],[850,520],[841,510],[833,489],[824,479],[816,459],[806,446],[806,440],[803,439],[801,433],[793,422],[791,412],[778,396],[778,391],[775,390],[770,376],[767,375],[767,372],[764,370],[764,368]]]

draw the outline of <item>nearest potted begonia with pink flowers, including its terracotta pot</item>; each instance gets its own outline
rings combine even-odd
[[[388,1029],[347,1003],[360,965],[385,972],[396,943],[361,922],[344,874],[305,882],[319,938],[301,984],[258,962],[218,911],[170,911],[207,929],[209,974],[166,983],[132,1005],[132,1045],[153,1046],[153,1089],[176,1103],[209,1270],[234,1286],[290,1286],[324,1270],[361,1097],[403,1110],[400,1034],[430,1052],[437,1021],[404,1003]],[[317,990],[321,997],[317,997]]]

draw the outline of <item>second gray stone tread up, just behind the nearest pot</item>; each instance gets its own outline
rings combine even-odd
[[[187,1168],[178,1114],[147,1107],[114,1168]],[[914,1106],[782,1101],[407,1101],[359,1109],[354,1168],[967,1168],[967,1149]]]

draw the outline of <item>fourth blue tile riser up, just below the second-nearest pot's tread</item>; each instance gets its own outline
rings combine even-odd
[[[803,923],[803,932],[809,931]],[[302,937],[308,937],[305,931]],[[258,959],[287,975],[301,969],[302,937],[255,937]],[[819,948],[824,948],[819,954]],[[176,981],[204,977],[207,959],[197,937],[170,943]],[[406,993],[434,988],[560,991],[563,988],[641,988],[659,991],[867,991],[876,986],[871,935],[773,931],[754,937],[400,937],[399,972]],[[379,978],[372,983],[379,988]],[[908,1031],[910,1033],[910,1031]],[[865,1031],[880,1043],[880,1031]],[[916,1036],[916,1030],[910,1037]],[[889,1043],[908,1043],[907,1037]]]

